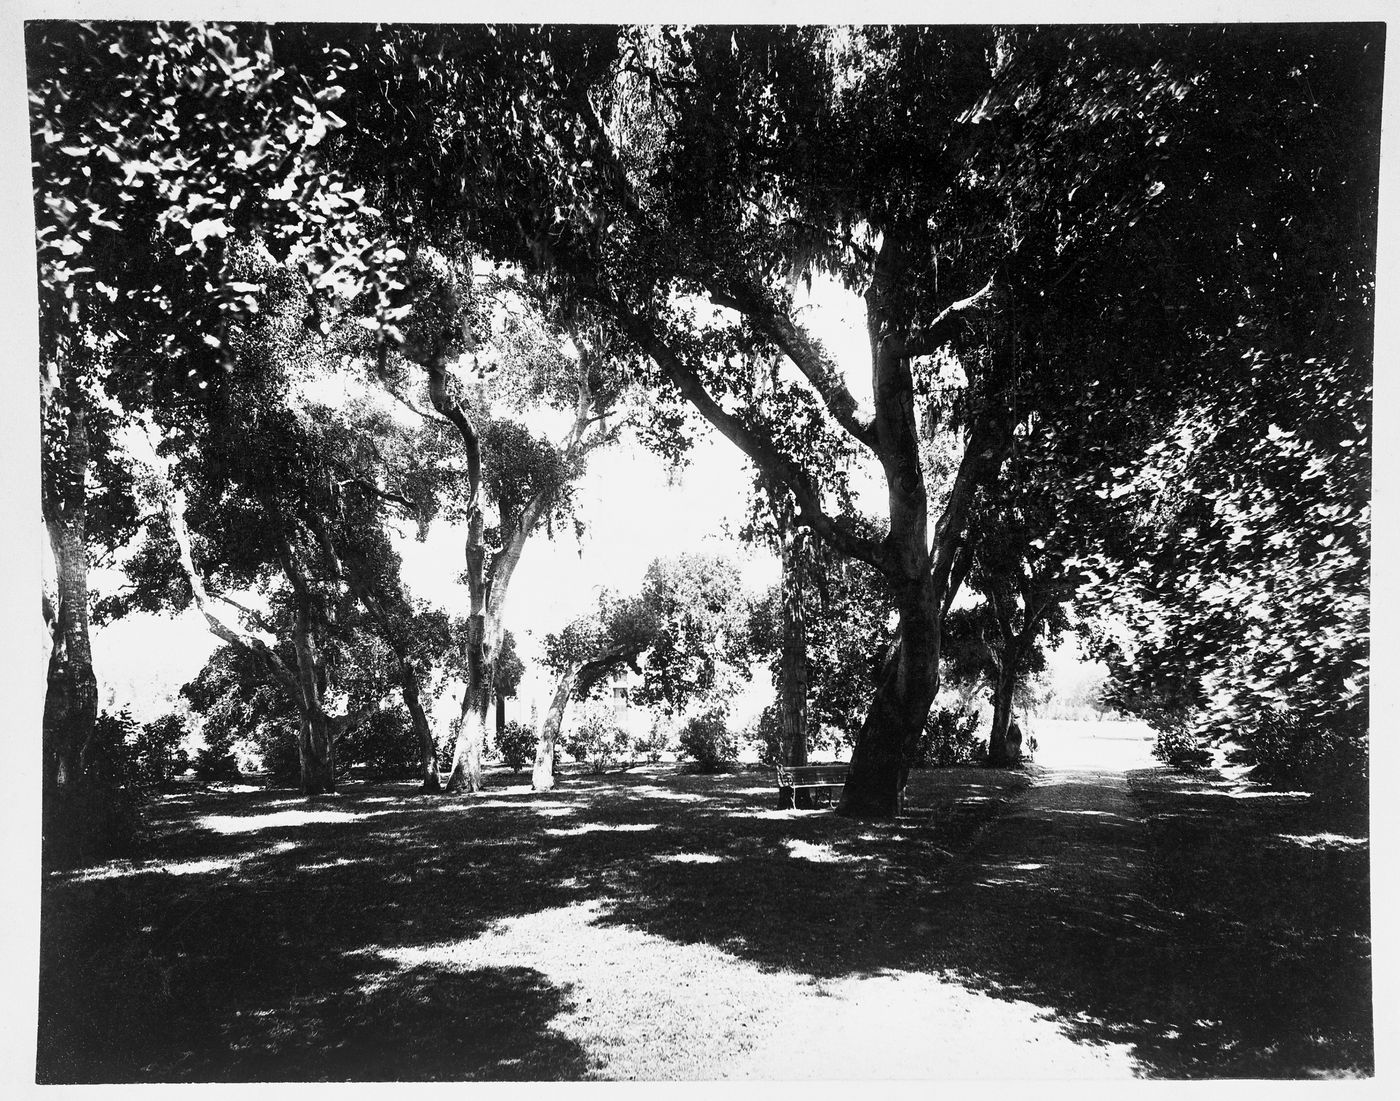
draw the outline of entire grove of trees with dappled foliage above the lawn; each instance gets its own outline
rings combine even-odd
[[[199,609],[305,794],[386,710],[424,790],[479,790],[528,541],[598,448],[701,431],[756,479],[766,630],[693,556],[606,597],[549,643],[536,787],[608,670],[676,706],[767,656],[783,754],[853,728],[839,812],[889,817],[946,661],[1011,763],[1071,626],[1172,737],[1364,780],[1382,52],[1371,24],[28,24],[46,845],[91,843],[90,632],[133,609]],[[813,280],[864,304],[860,361]],[[448,611],[395,550],[434,524]],[[97,553],[130,584],[94,604]]]

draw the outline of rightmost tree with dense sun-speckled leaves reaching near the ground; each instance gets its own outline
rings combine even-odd
[[[1105,492],[1137,518],[1098,565],[1113,702],[1165,740],[1233,747],[1259,775],[1365,786],[1371,375],[1380,108],[1375,28],[1260,34],[1222,73],[1218,132],[1250,220],[1215,385],[1183,395],[1138,469]],[[1280,80],[1275,102],[1249,94]],[[1256,84],[1257,87],[1257,84]],[[1254,141],[1287,119],[1288,140]],[[1231,143],[1231,144],[1226,144]],[[1296,766],[1296,768],[1295,768]]]

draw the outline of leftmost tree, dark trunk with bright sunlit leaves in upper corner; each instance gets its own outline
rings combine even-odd
[[[97,716],[88,642],[92,464],[108,454],[104,389],[127,405],[217,380],[223,332],[256,294],[224,269],[255,227],[304,269],[360,248],[358,202],[318,146],[339,71],[322,52],[273,64],[262,35],[209,25],[35,21],[25,28],[43,374],[43,517],[57,586],[45,699],[46,835],[81,786]],[[132,354],[133,331],[155,339]],[[101,520],[101,517],[97,517]],[[112,520],[109,514],[106,520]],[[99,525],[101,528],[101,525]]]

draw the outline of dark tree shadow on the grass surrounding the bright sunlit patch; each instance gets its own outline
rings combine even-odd
[[[756,773],[168,800],[150,860],[46,881],[39,1079],[585,1077],[557,1028],[567,988],[388,961],[589,899],[599,923],[760,969],[1025,999],[1144,1073],[1369,1067],[1364,845],[1158,780],[1133,814],[1007,817],[1025,783],[916,773],[909,815],[881,825],[776,811]],[[1046,874],[1071,829],[1082,867]]]

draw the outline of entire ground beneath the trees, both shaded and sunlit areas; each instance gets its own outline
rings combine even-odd
[[[1365,842],[1240,794],[927,772],[871,826],[666,766],[192,791],[148,860],[46,881],[39,1079],[1364,1072]]]

